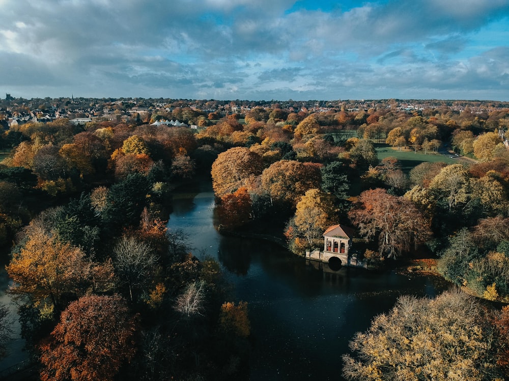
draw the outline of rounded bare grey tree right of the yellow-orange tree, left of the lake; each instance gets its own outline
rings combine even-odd
[[[122,237],[113,250],[113,263],[117,274],[129,289],[134,301],[135,289],[150,280],[157,264],[157,256],[149,244],[136,237]]]

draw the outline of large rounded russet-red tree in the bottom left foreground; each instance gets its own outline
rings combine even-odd
[[[135,319],[118,295],[86,296],[62,312],[41,346],[42,381],[109,381],[136,348]]]

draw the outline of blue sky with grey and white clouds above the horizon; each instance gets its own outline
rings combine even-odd
[[[0,98],[509,101],[509,0],[0,0]]]

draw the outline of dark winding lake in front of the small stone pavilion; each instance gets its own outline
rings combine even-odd
[[[330,273],[277,245],[222,237],[213,227],[210,183],[181,189],[169,229],[191,238],[195,255],[219,260],[236,301],[248,302],[253,336],[250,379],[343,379],[342,355],[355,332],[366,330],[398,296],[435,296],[435,278],[342,268]]]

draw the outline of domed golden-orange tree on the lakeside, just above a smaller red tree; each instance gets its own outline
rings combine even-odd
[[[248,148],[236,147],[217,155],[212,164],[212,187],[216,196],[235,192],[249,176],[262,173],[262,158]]]

